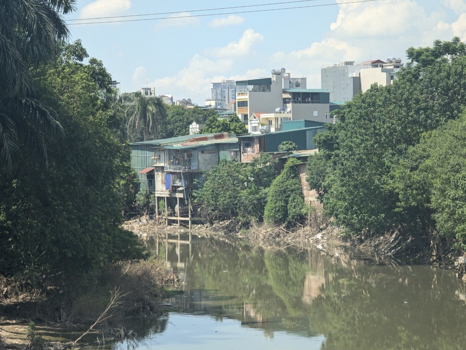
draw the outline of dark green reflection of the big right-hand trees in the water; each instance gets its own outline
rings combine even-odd
[[[329,349],[463,349],[466,315],[451,273],[351,265],[335,271],[311,306],[310,324]]]

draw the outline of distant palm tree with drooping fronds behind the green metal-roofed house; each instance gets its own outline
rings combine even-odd
[[[160,97],[145,96],[140,91],[122,94],[122,102],[127,106],[128,134],[143,129],[143,141],[157,140],[163,135],[167,113],[164,101]]]

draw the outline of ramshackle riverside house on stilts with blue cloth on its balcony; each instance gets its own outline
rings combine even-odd
[[[166,224],[188,221],[191,227],[193,191],[202,186],[203,173],[220,159],[240,159],[236,135],[198,134],[131,144],[131,167],[136,171],[140,190],[155,194],[156,215],[159,199],[164,200]]]

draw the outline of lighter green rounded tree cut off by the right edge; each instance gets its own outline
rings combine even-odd
[[[463,113],[425,134],[393,172],[399,208],[416,215],[436,244],[441,237],[461,249],[466,249],[465,135]]]

